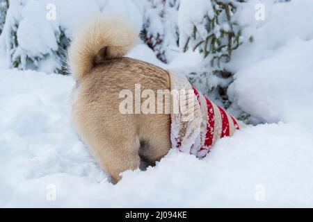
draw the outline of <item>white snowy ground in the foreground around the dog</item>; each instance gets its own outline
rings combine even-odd
[[[114,186],[70,123],[72,78],[2,69],[0,80],[3,207],[313,206],[312,123],[246,128],[202,161],[172,150]]]

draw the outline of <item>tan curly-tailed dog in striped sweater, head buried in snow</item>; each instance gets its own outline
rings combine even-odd
[[[198,91],[197,99],[193,101],[193,108],[198,114],[177,129],[183,135],[173,135],[171,132],[175,121],[182,117],[179,114],[120,112],[122,90],[129,89],[129,92],[136,94],[134,86],[141,85],[141,92],[150,90],[157,94],[160,89],[170,91],[175,87],[173,80],[179,78],[172,71],[125,57],[136,44],[137,37],[138,33],[123,19],[98,15],[79,29],[68,51],[70,71],[77,82],[72,104],[74,127],[114,183],[121,179],[120,173],[123,171],[138,169],[142,162],[153,165],[171,147],[181,148],[184,141],[188,141],[186,146],[191,146],[191,153],[198,150],[195,148],[197,145],[206,155],[213,146],[212,142],[210,146],[205,146],[207,135],[214,132],[202,132],[209,129],[209,122],[199,121],[205,105],[201,103],[203,97]],[[186,78],[183,81],[186,89],[192,89]],[[136,99],[131,101],[136,103]],[[139,102],[144,101],[141,98]],[[162,110],[168,107],[172,107],[172,100],[161,101]],[[219,108],[216,106],[216,109]],[[228,115],[225,118],[230,120],[233,117]],[[201,127],[194,128],[195,123]],[[194,143],[188,133],[196,135],[193,136]]]

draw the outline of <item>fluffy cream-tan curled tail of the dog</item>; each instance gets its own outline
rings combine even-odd
[[[104,60],[124,56],[137,36],[131,24],[120,17],[93,17],[79,28],[70,44],[67,59],[70,71],[77,80],[83,78]]]

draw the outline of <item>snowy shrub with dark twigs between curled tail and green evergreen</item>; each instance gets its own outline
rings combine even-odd
[[[172,60],[178,46],[177,13],[180,0],[143,0],[145,15],[141,38],[163,62]]]

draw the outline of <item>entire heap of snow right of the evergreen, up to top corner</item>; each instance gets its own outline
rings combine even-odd
[[[239,16],[255,40],[234,51],[228,94],[257,121],[312,121],[312,1],[262,1],[264,21],[254,19],[257,3],[249,1]]]

